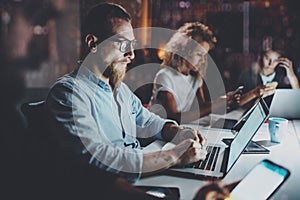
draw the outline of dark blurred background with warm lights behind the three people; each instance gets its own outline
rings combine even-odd
[[[55,80],[77,66],[81,49],[80,22],[91,6],[101,2],[105,1],[0,1],[0,53],[1,60],[5,60],[1,62],[1,68],[13,68],[23,78],[23,102],[44,99]],[[239,74],[250,68],[255,55],[268,48],[284,51],[294,62],[294,70],[299,77],[300,6],[297,0],[110,2],[119,3],[129,11],[134,28],[175,30],[184,22],[195,20],[211,26],[218,42],[210,56],[220,69],[227,90],[236,87]],[[151,33],[145,33],[140,41],[143,49],[136,52],[135,61],[129,69],[145,63],[160,63],[160,52],[147,48],[149,41]],[[1,77],[10,79],[15,71],[7,73],[2,70],[5,75]],[[143,76],[131,75],[127,79],[138,82]],[[15,83],[12,80],[8,82],[11,89],[14,89]]]

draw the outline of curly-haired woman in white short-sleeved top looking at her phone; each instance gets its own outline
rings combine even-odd
[[[161,69],[154,78],[151,111],[178,123],[188,123],[211,113],[212,106],[233,103],[231,92],[226,103],[225,98],[211,101],[204,95],[207,54],[215,43],[213,32],[200,22],[185,23],[178,29],[166,44]]]

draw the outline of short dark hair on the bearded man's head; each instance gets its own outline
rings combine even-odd
[[[118,4],[101,3],[92,7],[82,24],[82,42],[88,34],[97,36],[98,42],[112,36],[115,18],[131,20],[129,13]]]

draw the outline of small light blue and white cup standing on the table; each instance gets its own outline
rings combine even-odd
[[[288,131],[288,120],[281,117],[269,118],[269,132],[271,142],[280,143],[285,132]]]

